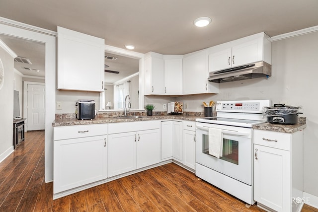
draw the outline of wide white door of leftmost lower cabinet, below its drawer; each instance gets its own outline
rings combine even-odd
[[[54,193],[107,178],[107,136],[54,141]]]

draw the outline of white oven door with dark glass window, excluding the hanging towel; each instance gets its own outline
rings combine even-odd
[[[222,129],[223,156],[209,154],[209,128]],[[196,162],[252,184],[252,129],[217,124],[196,123]]]

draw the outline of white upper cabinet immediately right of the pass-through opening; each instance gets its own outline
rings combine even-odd
[[[161,54],[145,55],[145,95],[163,95],[164,66]]]

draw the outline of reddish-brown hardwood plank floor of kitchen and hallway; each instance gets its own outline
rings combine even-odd
[[[44,183],[44,131],[0,163],[0,212],[262,212],[169,163],[67,197],[52,200]],[[318,212],[305,205],[302,212]]]

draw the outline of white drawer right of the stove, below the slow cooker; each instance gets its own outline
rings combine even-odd
[[[291,134],[263,130],[254,130],[253,134],[254,144],[290,151]]]

